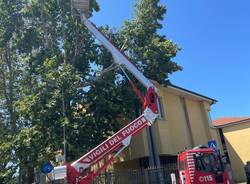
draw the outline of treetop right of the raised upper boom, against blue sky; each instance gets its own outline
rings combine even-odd
[[[167,84],[168,75],[182,68],[172,60],[179,50],[178,46],[158,33],[166,13],[166,7],[159,2],[138,0],[135,17],[125,21],[120,34],[130,58],[144,74],[160,84]]]

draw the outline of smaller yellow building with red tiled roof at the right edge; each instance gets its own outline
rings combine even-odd
[[[233,171],[233,179],[246,181],[244,166],[250,161],[250,117],[219,118],[213,121]]]

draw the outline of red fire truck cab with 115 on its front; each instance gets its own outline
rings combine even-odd
[[[230,184],[218,151],[197,147],[178,155],[180,184]]]

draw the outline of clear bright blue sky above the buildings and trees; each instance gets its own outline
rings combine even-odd
[[[120,28],[133,17],[135,0],[97,0],[92,21]],[[183,71],[173,84],[214,98],[213,119],[250,116],[250,1],[161,0],[167,14],[160,34],[181,47]]]

